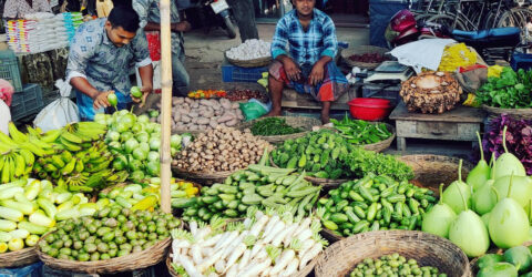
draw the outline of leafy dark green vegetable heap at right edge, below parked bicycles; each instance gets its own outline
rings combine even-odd
[[[532,71],[518,72],[504,68],[499,78],[490,76],[477,92],[478,100],[488,106],[503,109],[532,107]]]

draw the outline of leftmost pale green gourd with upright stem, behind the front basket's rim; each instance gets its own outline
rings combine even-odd
[[[443,184],[440,185],[440,202],[423,217],[421,230],[440,237],[449,237],[449,226],[457,218],[457,213],[443,203]]]

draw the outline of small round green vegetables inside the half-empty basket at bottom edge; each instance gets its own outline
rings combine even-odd
[[[367,258],[358,264],[349,275],[350,277],[364,276],[432,276],[447,277],[438,268],[431,266],[420,267],[416,259],[408,259],[398,253],[385,255],[378,259]]]

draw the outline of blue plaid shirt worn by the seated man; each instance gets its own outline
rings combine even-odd
[[[280,54],[287,54],[287,44],[289,55],[299,65],[314,64],[324,55],[335,58],[338,48],[335,23],[327,14],[314,9],[314,17],[305,32],[297,11],[291,10],[277,22],[272,57],[276,59]]]

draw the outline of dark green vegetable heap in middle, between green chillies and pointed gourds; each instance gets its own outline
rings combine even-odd
[[[369,173],[395,179],[413,177],[412,168],[393,156],[356,147],[330,130],[287,140],[272,152],[272,158],[280,167],[320,178],[364,177]]]

